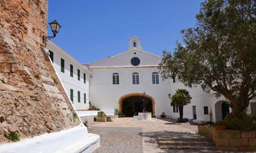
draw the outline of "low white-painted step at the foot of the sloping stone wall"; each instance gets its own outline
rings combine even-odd
[[[57,153],[91,153],[100,146],[100,137],[98,134],[88,134],[89,137],[84,140],[67,146],[67,148],[58,151]]]

